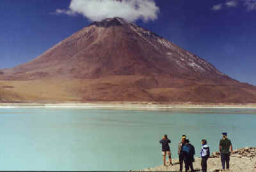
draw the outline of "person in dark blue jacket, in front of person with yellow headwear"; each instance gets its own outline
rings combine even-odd
[[[195,147],[189,143],[189,140],[185,140],[185,145],[182,148],[182,152],[184,152],[184,162],[185,162],[185,169],[186,172],[191,169],[191,172],[194,171],[193,168],[193,159],[195,155]]]

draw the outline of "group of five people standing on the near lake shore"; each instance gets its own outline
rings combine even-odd
[[[170,160],[170,165],[173,166],[172,152],[169,146],[169,143],[171,143],[170,139],[168,139],[167,135],[164,134],[163,139],[161,139],[159,143],[162,144],[162,155],[163,155],[164,166],[166,166],[166,155]],[[210,147],[209,145],[207,145],[206,139],[202,139],[201,143],[202,143],[202,148],[200,151],[200,156],[202,158],[201,166],[202,166],[202,171],[206,172],[207,160],[210,157]],[[227,169],[229,169],[230,153],[233,152],[233,149],[232,149],[232,143],[230,139],[227,138],[227,132],[222,133],[222,139],[220,140],[219,150],[221,153],[222,168],[225,169],[227,164]],[[189,171],[189,168],[191,169],[191,171],[194,171],[193,162],[195,162],[195,159],[194,159],[195,147],[189,143],[189,139],[187,139],[186,135],[182,135],[181,142],[178,145],[178,154],[179,154],[180,171],[182,171],[183,169],[183,162],[185,164],[186,172]]]

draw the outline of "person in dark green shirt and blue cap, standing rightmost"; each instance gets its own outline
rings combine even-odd
[[[222,169],[225,169],[225,164],[227,164],[227,169],[229,169],[230,153],[233,152],[232,143],[230,139],[227,138],[227,132],[223,132],[222,137],[223,138],[220,140],[219,146]]]

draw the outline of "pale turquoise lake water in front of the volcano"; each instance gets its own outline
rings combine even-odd
[[[159,140],[168,134],[177,158],[186,134],[218,150],[221,132],[234,148],[255,146],[255,109],[0,109],[0,170],[130,170],[162,163]]]

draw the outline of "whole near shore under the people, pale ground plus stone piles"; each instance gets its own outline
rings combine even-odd
[[[195,171],[202,171],[201,159],[199,157],[195,158],[193,166]],[[139,171],[179,171],[179,159],[173,159],[173,166],[167,164],[166,166],[161,165]],[[213,152],[211,154],[211,157],[207,161],[207,171],[223,171],[221,168],[220,152]],[[228,172],[256,172],[256,148],[246,147],[234,150],[230,155],[230,170]]]

